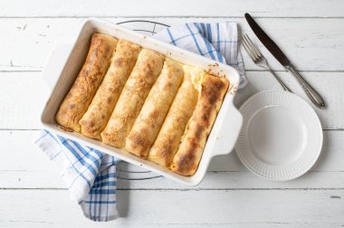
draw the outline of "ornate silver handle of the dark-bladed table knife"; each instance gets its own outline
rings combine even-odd
[[[311,85],[303,79],[301,74],[296,71],[296,69],[290,64],[289,66],[285,67],[288,71],[295,76],[297,81],[299,81],[302,89],[306,92],[307,96],[311,99],[311,101],[320,109],[325,108],[325,101],[321,98],[320,94],[314,90]]]

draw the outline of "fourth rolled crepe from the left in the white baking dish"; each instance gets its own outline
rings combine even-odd
[[[183,67],[177,62],[166,59],[158,80],[149,91],[139,117],[126,139],[127,151],[138,157],[148,156],[149,148],[158,135],[158,130],[183,81],[183,76]]]

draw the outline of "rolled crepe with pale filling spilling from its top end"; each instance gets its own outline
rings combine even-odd
[[[192,81],[192,75],[204,73],[203,70],[198,71],[196,68],[184,66],[184,81],[168,110],[157,139],[149,150],[148,160],[161,166],[169,166],[172,162],[186,124],[196,107],[198,92]]]

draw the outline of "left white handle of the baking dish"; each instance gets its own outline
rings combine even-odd
[[[72,51],[72,44],[59,44],[53,47],[47,62],[45,62],[42,78],[44,83],[53,90],[56,81],[59,79],[68,55]]]

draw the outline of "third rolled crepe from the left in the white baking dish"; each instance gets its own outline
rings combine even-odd
[[[142,49],[130,73],[106,128],[101,132],[102,141],[110,146],[124,147],[125,138],[139,115],[150,88],[161,72],[164,56]]]

